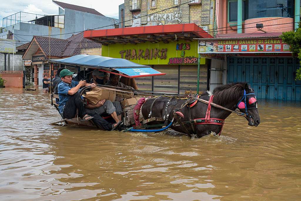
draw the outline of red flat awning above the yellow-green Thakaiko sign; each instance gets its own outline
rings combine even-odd
[[[114,43],[141,43],[177,40],[191,40],[193,38],[213,38],[196,24],[170,24],[143,27],[127,27],[105,30],[87,30],[84,32],[87,39],[100,42],[104,45]]]

